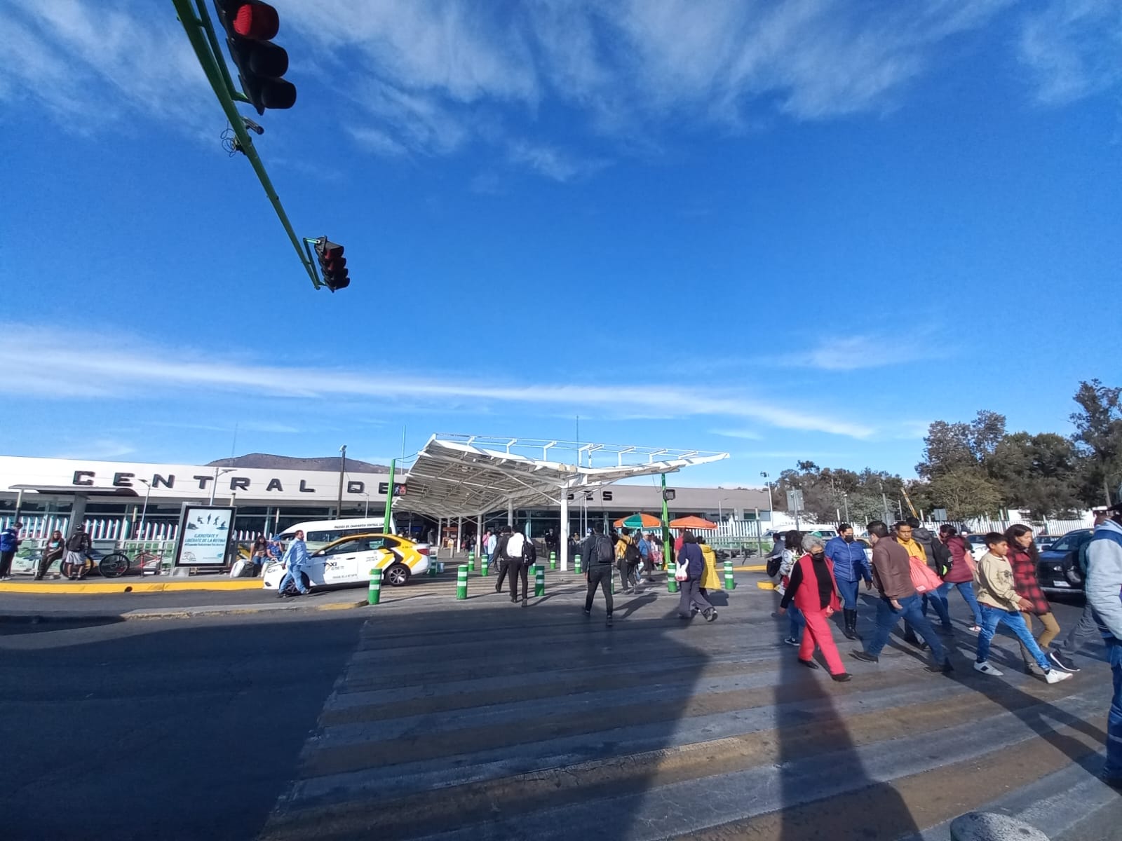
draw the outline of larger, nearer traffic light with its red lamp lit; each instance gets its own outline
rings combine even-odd
[[[214,0],[214,11],[238,66],[241,90],[257,113],[292,108],[296,86],[282,78],[288,72],[288,53],[270,40],[280,27],[277,10],[260,0]]]

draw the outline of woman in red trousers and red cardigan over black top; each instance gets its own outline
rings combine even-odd
[[[842,665],[828,621],[834,611],[842,608],[842,597],[834,581],[834,563],[826,557],[826,544],[821,537],[807,535],[802,538],[802,548],[804,554],[791,570],[791,581],[779,603],[779,612],[785,613],[794,601],[794,607],[806,617],[807,629],[799,646],[799,663],[808,668],[818,668],[813,660],[817,645],[822,649],[830,677],[844,683],[849,680],[849,674]]]

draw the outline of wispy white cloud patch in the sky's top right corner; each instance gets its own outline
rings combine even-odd
[[[1118,0],[1056,0],[1028,15],[1018,55],[1036,99],[1061,105],[1122,82],[1122,6]]]

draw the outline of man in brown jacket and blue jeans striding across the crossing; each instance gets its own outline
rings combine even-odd
[[[911,583],[908,551],[889,539],[889,527],[882,520],[870,523],[867,529],[868,542],[873,544],[873,582],[881,592],[881,601],[876,606],[876,630],[873,638],[865,644],[865,650],[850,654],[859,660],[876,663],[888,645],[892,629],[904,619],[931,648],[932,662],[927,671],[944,674],[953,672],[954,667],[942,643],[923,616],[919,593]]]

